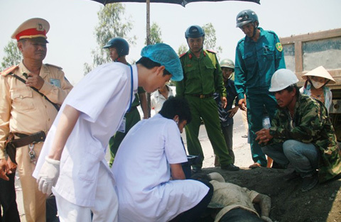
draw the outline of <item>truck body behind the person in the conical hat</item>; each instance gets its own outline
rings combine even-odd
[[[330,120],[337,141],[341,142],[341,28],[280,38],[286,68],[296,73],[298,87],[303,87],[302,75],[322,65],[335,79],[328,84],[332,91]]]

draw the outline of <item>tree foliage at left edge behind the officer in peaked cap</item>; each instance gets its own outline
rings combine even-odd
[[[13,65],[18,65],[23,59],[21,52],[16,46],[16,42],[10,40],[9,43],[4,48],[5,56],[2,58],[1,70],[4,70]]]

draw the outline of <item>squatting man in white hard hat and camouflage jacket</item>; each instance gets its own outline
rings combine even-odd
[[[271,128],[256,132],[263,152],[282,167],[295,170],[285,180],[302,178],[301,190],[313,189],[341,173],[340,148],[328,111],[310,96],[299,93],[291,70],[277,70],[269,91],[274,91],[278,110]]]

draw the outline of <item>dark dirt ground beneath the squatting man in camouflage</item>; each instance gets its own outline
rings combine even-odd
[[[208,167],[203,172],[219,172],[227,182],[270,196],[270,218],[274,222],[341,221],[341,179],[301,192],[301,179],[283,180],[287,170],[242,167],[237,172],[229,172],[220,167]]]

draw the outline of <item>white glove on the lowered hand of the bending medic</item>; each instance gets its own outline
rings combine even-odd
[[[50,195],[59,177],[60,161],[45,157],[43,167],[38,174],[38,189],[44,194]]]

